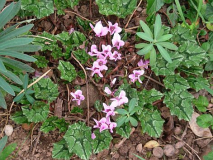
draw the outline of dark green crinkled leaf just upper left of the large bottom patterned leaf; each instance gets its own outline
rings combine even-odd
[[[56,128],[58,128],[60,132],[65,132],[68,128],[68,123],[66,123],[64,119],[52,116],[43,122],[40,130],[44,133],[48,133]]]

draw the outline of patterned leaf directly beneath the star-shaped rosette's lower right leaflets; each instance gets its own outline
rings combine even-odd
[[[157,54],[157,62],[154,64],[150,64],[152,70],[155,74],[158,75],[174,75],[174,70],[180,65],[183,60],[183,56],[180,55],[178,52],[170,52],[170,57],[172,59],[172,63],[168,63],[162,56]]]

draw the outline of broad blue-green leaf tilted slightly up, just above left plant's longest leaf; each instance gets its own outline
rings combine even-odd
[[[0,43],[0,50],[10,48],[10,47],[16,47],[16,46],[22,46],[27,45],[33,41],[33,38],[15,38],[8,41],[5,41],[3,43]]]

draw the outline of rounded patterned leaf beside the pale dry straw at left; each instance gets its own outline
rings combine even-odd
[[[54,84],[50,78],[43,78],[38,83],[33,85],[35,90],[35,98],[48,100],[52,102],[59,95],[58,85]]]

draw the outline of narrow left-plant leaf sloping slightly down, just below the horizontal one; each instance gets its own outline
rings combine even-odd
[[[4,55],[4,56],[10,56],[10,57],[14,57],[14,58],[18,58],[24,61],[28,61],[28,62],[35,62],[37,61],[37,59],[35,59],[32,56],[28,56],[26,54],[23,53],[19,53],[16,51],[4,51],[4,50],[0,50],[0,55]]]

